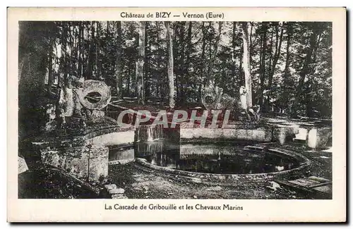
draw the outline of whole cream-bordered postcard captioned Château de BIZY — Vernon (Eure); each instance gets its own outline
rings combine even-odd
[[[8,8],[7,79],[9,222],[347,220],[345,8]]]

